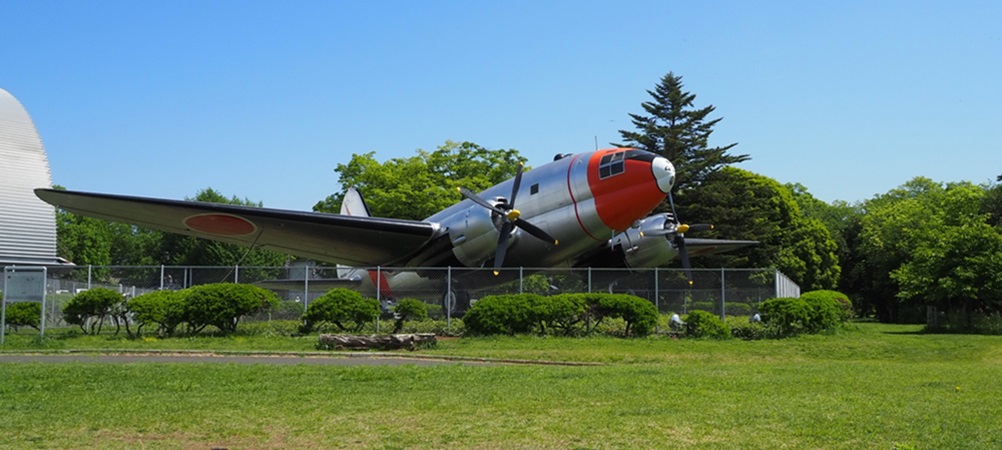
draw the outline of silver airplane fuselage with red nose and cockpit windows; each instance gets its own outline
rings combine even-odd
[[[512,180],[480,196],[503,202]],[[568,155],[525,172],[517,193],[521,216],[552,235],[544,243],[520,229],[508,241],[505,267],[570,267],[579,257],[645,217],[674,183],[674,167],[642,150],[610,148]],[[441,223],[465,267],[481,267],[496,251],[497,213],[463,200],[426,219]]]

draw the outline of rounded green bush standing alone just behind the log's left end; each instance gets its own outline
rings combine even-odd
[[[341,331],[361,330],[379,318],[379,301],[366,299],[355,291],[338,288],[314,300],[303,314],[304,333],[332,324]],[[352,327],[349,327],[352,325]]]

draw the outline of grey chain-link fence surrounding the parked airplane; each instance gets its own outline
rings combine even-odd
[[[46,316],[61,325],[62,307],[73,295],[108,288],[135,297],[156,290],[182,290],[211,283],[242,283],[278,293],[283,300],[271,319],[298,319],[310,302],[334,288],[349,288],[376,298],[384,308],[413,298],[429,305],[433,317],[461,316],[489,295],[532,293],[631,294],[664,314],[692,310],[721,318],[748,316],[761,302],[800,297],[800,287],[775,269],[693,269],[692,283],[680,269],[490,269],[259,267],[85,267],[50,278]]]

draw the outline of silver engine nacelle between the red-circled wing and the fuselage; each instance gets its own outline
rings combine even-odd
[[[473,206],[443,220],[449,228],[452,253],[464,266],[480,267],[497,253],[500,232],[496,218],[489,209]]]

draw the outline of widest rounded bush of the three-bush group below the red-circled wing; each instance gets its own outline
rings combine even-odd
[[[221,333],[236,331],[240,318],[274,308],[279,297],[252,285],[218,283],[189,288],[183,292],[184,322],[197,333],[211,325]]]

